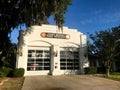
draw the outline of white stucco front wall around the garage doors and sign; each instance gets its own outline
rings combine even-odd
[[[42,32],[48,33],[60,33],[70,35],[69,39],[59,39],[59,38],[43,38],[41,37]],[[40,48],[49,47],[51,50],[51,71],[27,71],[27,55],[29,48]],[[69,29],[68,27],[63,27],[63,32],[59,31],[57,26],[54,25],[42,25],[42,26],[32,26],[26,31],[20,31],[18,50],[21,50],[22,55],[17,55],[17,68],[25,69],[25,76],[27,75],[47,75],[51,73],[52,75],[61,75],[69,73],[69,70],[60,70],[60,48],[61,47],[77,47],[79,48],[79,62],[80,70],[71,71],[84,73],[84,67],[89,66],[89,62],[86,54],[86,35],[79,32],[77,29]],[[57,57],[52,54],[54,51],[58,51]],[[57,69],[55,69],[55,64],[57,64]]]

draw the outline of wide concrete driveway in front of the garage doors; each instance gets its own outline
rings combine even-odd
[[[120,90],[120,81],[92,75],[27,76],[22,90]]]

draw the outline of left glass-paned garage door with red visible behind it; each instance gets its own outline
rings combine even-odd
[[[50,48],[29,48],[28,49],[28,71],[50,70]]]

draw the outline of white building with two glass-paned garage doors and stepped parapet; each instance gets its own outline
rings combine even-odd
[[[20,30],[17,68],[24,76],[84,73],[89,66],[86,35],[76,29],[54,25],[31,26]]]

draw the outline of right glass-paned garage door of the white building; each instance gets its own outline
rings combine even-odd
[[[61,48],[60,51],[61,70],[79,70],[79,49],[73,47]]]

